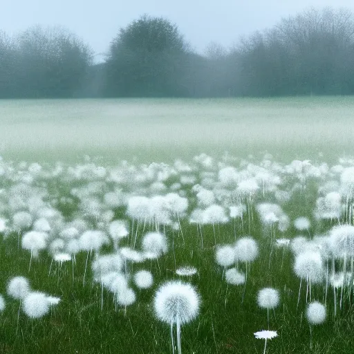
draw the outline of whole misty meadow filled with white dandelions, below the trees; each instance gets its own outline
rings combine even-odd
[[[0,112],[0,353],[353,351],[353,98]]]

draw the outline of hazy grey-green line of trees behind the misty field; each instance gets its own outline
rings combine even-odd
[[[354,15],[310,8],[232,48],[196,53],[176,24],[143,15],[106,59],[61,27],[0,31],[0,97],[269,97],[354,93]]]

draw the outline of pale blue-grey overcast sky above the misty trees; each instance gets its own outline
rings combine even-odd
[[[241,35],[310,6],[354,12],[354,0],[2,0],[0,29],[15,34],[33,24],[60,24],[104,53],[120,27],[147,13],[168,17],[202,53],[210,41],[232,46]]]

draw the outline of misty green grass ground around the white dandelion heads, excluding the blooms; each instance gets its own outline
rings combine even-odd
[[[326,304],[327,316],[324,324],[313,326],[310,348],[306,281],[297,306],[300,279],[293,270],[295,255],[290,247],[277,248],[275,239],[301,235],[312,249],[317,245],[314,236],[326,235],[335,225],[353,225],[353,198],[344,188],[348,182],[342,174],[354,162],[348,158],[339,162],[353,154],[353,98],[24,100],[2,101],[0,111],[0,219],[7,226],[0,232],[0,295],[6,302],[0,312],[0,353],[172,353],[170,328],[156,318],[153,297],[165,281],[181,279],[176,268],[182,265],[197,268],[198,274],[183,281],[192,283],[201,296],[198,316],[182,326],[183,353],[263,353],[264,341],[255,339],[254,332],[268,329],[267,310],[257,306],[257,294],[266,287],[280,294],[279,306],[270,310],[270,329],[277,330],[278,337],[268,341],[266,353],[352,353],[353,281],[342,287],[340,304],[341,288],[328,286],[326,295],[328,278],[312,285],[312,299]],[[265,151],[272,156],[264,156]],[[214,163],[207,166],[194,160],[199,153],[208,153]],[[85,155],[91,160],[84,162]],[[178,159],[185,165],[174,163]],[[304,163],[297,170],[291,165],[297,159],[310,160],[310,165]],[[39,162],[41,169],[21,161]],[[56,165],[59,161],[63,164]],[[152,162],[166,164],[148,167]],[[334,165],[342,169],[331,169]],[[257,181],[258,188],[241,193],[236,182],[225,185],[219,172],[230,166],[236,168],[237,183]],[[106,173],[100,174],[97,167]],[[265,173],[272,179],[263,192]],[[276,177],[279,182],[274,182]],[[190,223],[194,209],[206,209],[198,201],[196,185],[212,191],[214,203],[227,216],[230,206],[245,204],[242,221]],[[109,205],[105,199],[109,192],[119,195],[122,203]],[[113,293],[106,288],[102,292],[100,283],[93,281],[94,254],[88,256],[85,283],[87,252],[76,254],[75,266],[68,261],[59,268],[53,262],[50,243],[77,218],[86,221],[88,230],[107,234],[111,220],[127,220],[130,232],[120,248],[131,246],[137,237],[136,249],[141,250],[143,236],[156,231],[156,225],[137,226],[127,216],[128,200],[170,192],[187,198],[187,213],[177,228],[157,227],[167,236],[166,254],[158,261],[129,262],[122,270],[136,293],[131,306],[116,306]],[[288,198],[281,198],[281,192]],[[339,220],[314,216],[318,198],[328,192],[341,195]],[[257,212],[260,203],[280,205],[290,222],[286,230],[279,230],[277,222],[265,227]],[[18,233],[13,216],[26,211],[35,221],[48,208],[57,214],[46,217],[51,226],[47,247],[32,259],[29,270],[30,252],[21,248],[21,239],[33,225]],[[104,214],[108,210],[109,220]],[[293,222],[299,216],[309,218],[309,230],[296,230]],[[227,285],[223,267],[215,261],[217,246],[233,245],[247,235],[257,241],[259,257],[248,265],[245,284]],[[115,252],[112,241],[100,250],[111,252]],[[324,258],[324,264],[339,272],[344,264],[353,265],[353,257]],[[245,272],[245,263],[237,266]],[[132,279],[142,269],[153,274],[153,286],[147,290],[137,288]],[[10,279],[20,275],[28,278],[32,290],[60,297],[59,304],[40,319],[28,317],[6,290]]]

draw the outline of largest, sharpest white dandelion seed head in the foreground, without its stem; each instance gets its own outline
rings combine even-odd
[[[198,315],[200,302],[198,293],[189,283],[169,281],[156,292],[153,306],[160,321],[184,324]]]

